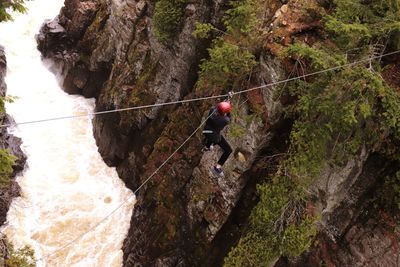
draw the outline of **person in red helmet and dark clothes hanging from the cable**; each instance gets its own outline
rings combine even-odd
[[[223,176],[222,166],[232,153],[232,148],[221,135],[221,131],[231,122],[232,105],[229,100],[218,103],[213,106],[208,113],[209,118],[204,126],[203,135],[205,137],[204,151],[210,151],[214,145],[219,145],[224,151],[217,164],[212,167],[212,171],[219,176]]]

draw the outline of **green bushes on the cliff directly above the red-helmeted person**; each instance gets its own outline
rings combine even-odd
[[[224,33],[213,40],[208,49],[209,59],[200,65],[199,88],[227,89],[246,78],[256,61],[249,44],[254,44],[259,23],[256,0],[231,1],[223,22],[226,32],[211,24],[197,24],[194,35],[206,38],[211,31]]]

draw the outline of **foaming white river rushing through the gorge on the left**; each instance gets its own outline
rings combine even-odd
[[[36,50],[34,35],[62,4],[29,1],[27,14],[0,23],[8,94],[17,97],[6,108],[16,122],[93,112],[94,100],[64,93]],[[2,232],[16,247],[30,245],[37,266],[121,266],[134,197],[98,154],[91,118],[20,125],[11,131],[22,138],[28,160],[17,178],[21,197],[13,201]]]

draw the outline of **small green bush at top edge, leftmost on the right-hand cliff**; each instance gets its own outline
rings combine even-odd
[[[154,33],[162,43],[169,43],[180,30],[188,0],[159,0],[154,8]]]

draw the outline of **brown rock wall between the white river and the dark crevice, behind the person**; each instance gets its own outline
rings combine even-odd
[[[149,2],[67,1],[60,16],[43,27],[39,48],[44,56],[61,60],[68,92],[97,96],[97,110],[196,97],[200,92],[192,88],[205,46],[191,33],[196,21],[216,19],[224,4],[189,4],[180,34],[173,45],[165,46],[151,31],[154,7]],[[71,18],[73,8],[84,17]],[[80,31],[82,25],[86,30]],[[277,62],[265,62],[259,82],[280,78],[279,68]],[[90,81],[99,73],[103,80],[94,85]],[[271,102],[272,94],[255,94],[238,109],[235,123],[253,134],[246,134],[246,140],[230,138],[234,157],[240,155],[240,160],[228,161],[229,179],[213,180],[209,169],[219,151],[202,157],[198,134],[139,191],[134,227],[124,245],[125,265],[187,265],[204,257],[197,244],[208,245],[222,227],[246,184],[241,174],[270,135],[266,121],[246,122],[239,115],[249,113],[252,101]],[[99,151],[135,189],[191,134],[211,104],[98,116],[94,129]],[[269,113],[275,120],[279,117],[276,109]]]

